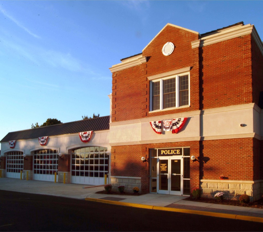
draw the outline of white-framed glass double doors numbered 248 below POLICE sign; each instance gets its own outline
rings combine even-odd
[[[158,193],[183,194],[183,158],[159,157],[158,159]]]

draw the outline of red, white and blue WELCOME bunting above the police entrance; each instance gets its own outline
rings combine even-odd
[[[172,131],[172,134],[176,134],[181,128],[183,128],[183,125],[186,123],[187,118],[163,119],[161,121],[163,121],[164,131]],[[151,127],[157,134],[161,134],[161,121],[150,122]]]

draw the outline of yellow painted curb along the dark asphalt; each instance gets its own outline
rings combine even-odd
[[[85,198],[85,200],[93,201],[93,202],[100,202],[100,203],[105,203],[105,204],[143,208],[143,209],[163,210],[163,211],[178,212],[178,213],[190,213],[190,214],[198,214],[198,215],[204,215],[204,216],[210,216],[210,217],[229,218],[229,219],[237,219],[237,220],[245,220],[245,221],[263,223],[263,218],[237,215],[237,214],[215,213],[215,212],[207,212],[207,211],[192,210],[192,209],[169,208],[169,207],[162,207],[162,206],[120,202],[120,201],[110,201],[110,200],[103,200],[103,199],[97,199],[97,198]]]

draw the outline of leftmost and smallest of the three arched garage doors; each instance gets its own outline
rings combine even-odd
[[[24,158],[22,151],[8,152],[6,157],[6,177],[20,178],[20,172],[23,171],[23,164]]]

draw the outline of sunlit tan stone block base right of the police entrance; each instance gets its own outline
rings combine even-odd
[[[250,201],[262,198],[263,180],[258,181],[227,181],[201,180],[202,197],[214,198],[217,192],[224,193],[224,199],[239,200],[239,196],[247,194]]]

